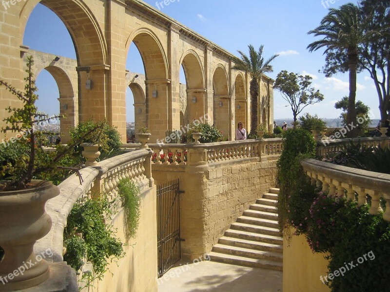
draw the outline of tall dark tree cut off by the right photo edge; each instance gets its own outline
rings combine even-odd
[[[390,111],[390,2],[363,0],[361,13],[365,32],[370,38],[360,47],[359,57],[375,83],[384,127]]]

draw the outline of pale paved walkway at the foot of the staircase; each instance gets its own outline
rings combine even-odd
[[[282,272],[202,261],[169,270],[158,292],[281,292]]]

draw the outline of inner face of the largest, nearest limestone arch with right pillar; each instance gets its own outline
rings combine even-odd
[[[23,39],[27,20],[38,3],[52,10],[67,28],[75,46],[79,84],[86,84],[88,79],[93,81],[91,89],[78,87],[79,119],[108,118],[112,123],[110,111],[106,112],[106,91],[102,90],[107,78],[108,50],[91,9],[79,0],[29,0],[20,11],[20,39]]]

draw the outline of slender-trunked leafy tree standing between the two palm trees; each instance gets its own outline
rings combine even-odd
[[[280,91],[284,100],[289,103],[294,117],[294,128],[297,124],[296,117],[304,108],[324,99],[324,95],[312,87],[311,80],[309,75],[289,73],[286,70],[276,76],[273,88]]]

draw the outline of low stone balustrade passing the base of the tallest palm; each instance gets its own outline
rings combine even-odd
[[[360,143],[366,146],[390,146],[390,137],[363,137],[363,138],[354,138],[353,143]],[[351,143],[351,139],[334,139],[334,140],[321,140],[317,142],[317,155],[321,157],[326,157],[328,154],[337,153],[342,148],[343,145],[348,145]]]

